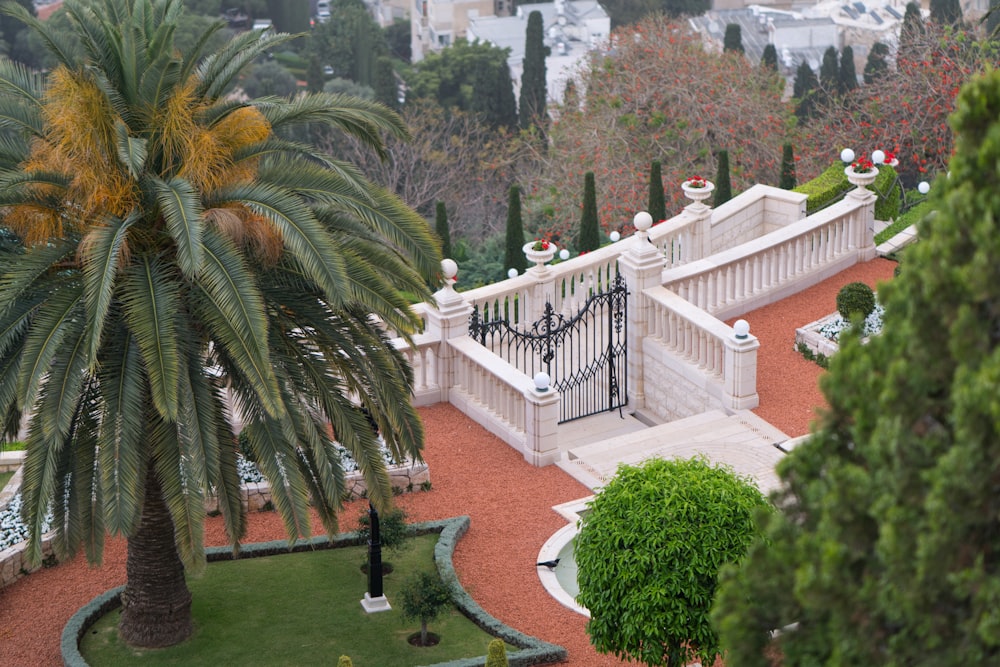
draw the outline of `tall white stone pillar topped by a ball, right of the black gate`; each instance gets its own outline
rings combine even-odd
[[[639,410],[646,407],[642,343],[655,330],[653,307],[643,292],[663,282],[663,255],[649,242],[648,230],[653,224],[649,213],[636,213],[633,224],[635,235],[618,258],[618,267],[628,286],[628,404]]]

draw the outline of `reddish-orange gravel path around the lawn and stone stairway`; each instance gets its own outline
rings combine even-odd
[[[757,414],[788,435],[808,432],[814,410],[823,402],[816,387],[820,370],[794,351],[795,327],[835,310],[837,290],[845,283],[861,280],[874,287],[891,277],[894,266],[881,259],[868,262],[744,315],[761,341]],[[448,404],[424,408],[421,414],[433,489],[402,496],[399,502],[415,521],[460,514],[472,517],[469,532],[455,553],[455,567],[466,589],[509,625],[565,646],[569,650],[566,664],[625,664],[597,654],[587,640],[585,619],[555,602],[535,574],[538,550],[565,525],[552,506],[586,496],[589,490],[555,466],[528,465]],[[346,508],[342,525],[353,528],[361,509],[357,503]],[[222,535],[221,521],[209,519],[206,543],[224,543]],[[283,537],[276,514],[251,515],[247,542]],[[77,558],[0,590],[0,665],[62,664],[59,637],[63,625],[91,598],[124,583],[124,554],[124,542],[110,540],[100,568],[88,567],[83,558]]]

